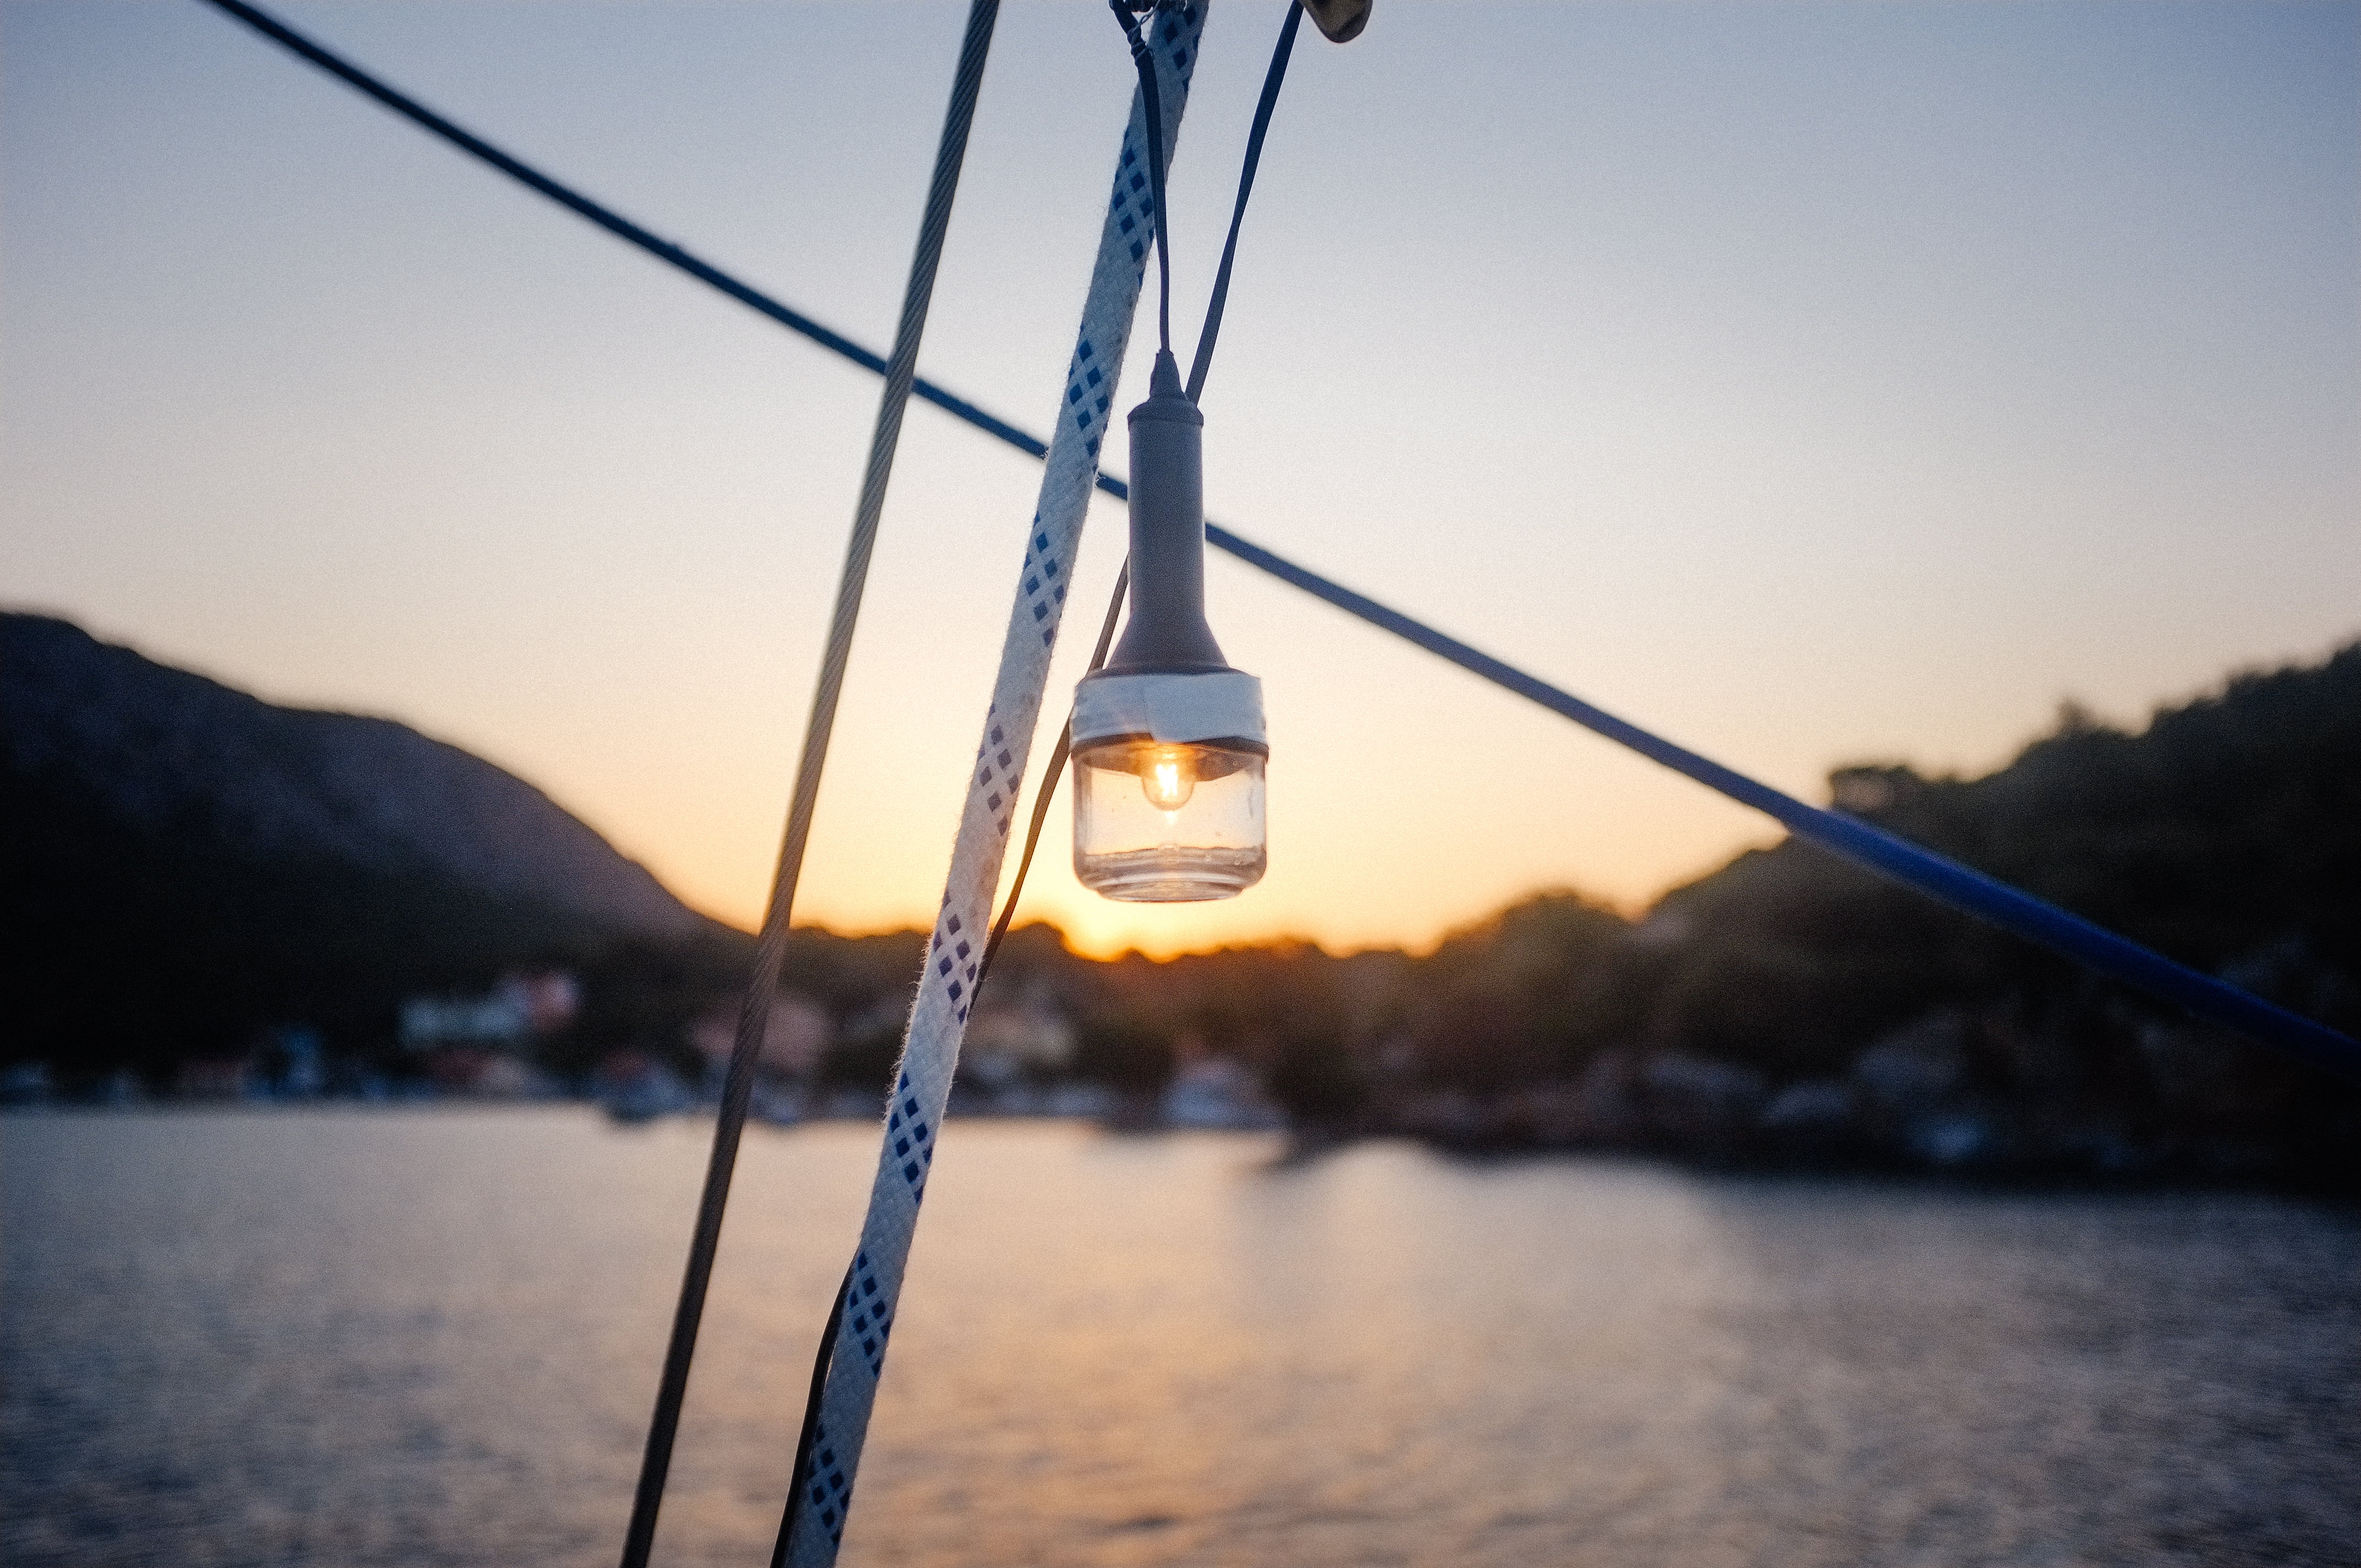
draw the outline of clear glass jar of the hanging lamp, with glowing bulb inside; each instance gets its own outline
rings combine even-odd
[[[1074,876],[1126,904],[1235,897],[1263,878],[1263,756],[1114,739],[1074,751]]]

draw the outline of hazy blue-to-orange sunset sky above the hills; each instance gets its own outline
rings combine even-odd
[[[276,7],[883,347],[963,7]],[[1183,357],[1282,12],[1216,0]],[[1131,66],[1011,0],[923,371],[1046,432]],[[1124,399],[1145,394],[1133,335]],[[2361,5],[1306,31],[1206,411],[1249,538],[1806,798],[2361,635]],[[0,5],[0,605],[387,713],[760,916],[876,380],[196,2]],[[1119,444],[1107,451],[1121,468]],[[798,916],[923,923],[1039,468],[914,409]],[[1036,765],[1121,555],[1103,503]],[[1775,829],[1228,557],[1273,869],[1077,945],[1431,942]]]

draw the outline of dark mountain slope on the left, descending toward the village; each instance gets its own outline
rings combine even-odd
[[[619,945],[727,945],[531,784],[406,725],[279,708],[0,616],[5,1053],[68,1079]]]

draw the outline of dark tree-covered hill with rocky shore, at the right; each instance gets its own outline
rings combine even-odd
[[[1988,777],[1870,763],[1830,796],[2361,1034],[2361,645],[2139,734],[2068,704]],[[1792,838],[1639,923],[1509,909],[1410,966],[1388,1027],[1365,1115],[1478,1143],[2361,1178],[2352,1084]]]

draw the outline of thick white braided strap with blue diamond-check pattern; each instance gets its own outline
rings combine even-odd
[[[1164,109],[1166,163],[1180,135],[1204,14],[1206,0],[1188,0],[1183,7],[1159,9],[1152,19],[1150,47]],[[786,1561],[796,1568],[826,1568],[836,1561],[836,1547],[845,1535],[852,1481],[869,1436],[878,1374],[885,1367],[885,1334],[902,1296],[902,1268],[918,1226],[918,1200],[935,1157],[942,1108],[951,1096],[959,1041],[968,1027],[966,999],[975,989],[975,971],[992,930],[992,895],[1001,881],[1025,753],[1041,716],[1041,687],[1048,680],[1048,656],[1065,609],[1067,574],[1098,482],[1098,446],[1114,418],[1114,380],[1131,342],[1131,316],[1140,300],[1152,231],[1147,120],[1133,92],[1124,151],[1114,165],[1114,201],[1098,241],[1081,333],[1060,394],[1058,432],[1051,437],[1041,475],[1041,501],[1025,536],[1025,564],[1018,569],[1008,638],[1001,642],[1001,673],[985,711],[985,744],[975,753],[942,912],[935,916],[935,937],[902,1041],[902,1067],[885,1108],[885,1148],[878,1155],[869,1216],[862,1221],[859,1252],[852,1256],[845,1285],[836,1355],[819,1396],[810,1474],[798,1476],[803,1497],[786,1547]]]

